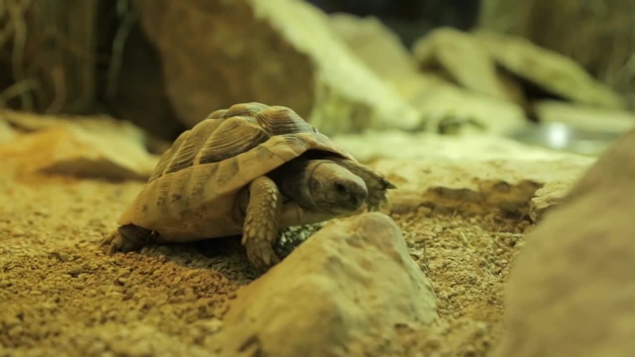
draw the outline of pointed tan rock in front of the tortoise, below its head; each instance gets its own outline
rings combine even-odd
[[[215,337],[227,356],[348,356],[359,339],[377,346],[436,318],[398,226],[374,212],[330,222],[238,290]]]

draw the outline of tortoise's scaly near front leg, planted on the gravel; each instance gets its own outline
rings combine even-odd
[[[241,243],[251,264],[260,271],[267,271],[280,261],[273,245],[278,236],[283,198],[273,180],[266,176],[253,180],[249,192]]]

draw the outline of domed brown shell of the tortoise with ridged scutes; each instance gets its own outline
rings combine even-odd
[[[164,152],[119,224],[159,232],[165,241],[240,234],[236,194],[309,150],[356,161],[287,107],[260,103],[215,111]]]

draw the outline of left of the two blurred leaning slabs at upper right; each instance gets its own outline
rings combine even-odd
[[[467,32],[451,27],[434,29],[413,45],[413,55],[420,69],[441,67],[474,93],[525,104],[519,84],[497,71],[488,49]]]

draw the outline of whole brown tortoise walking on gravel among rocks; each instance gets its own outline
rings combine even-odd
[[[235,104],[177,137],[102,245],[112,255],[242,234],[266,271],[279,229],[380,210],[394,188],[290,108]]]

